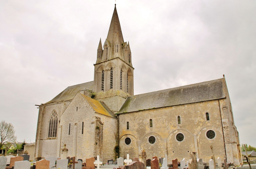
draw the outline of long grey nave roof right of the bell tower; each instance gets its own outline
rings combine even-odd
[[[225,98],[225,79],[130,96],[117,114]]]

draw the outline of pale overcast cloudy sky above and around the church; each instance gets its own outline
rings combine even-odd
[[[38,109],[93,81],[114,0],[0,0],[0,121],[35,142]],[[256,1],[116,0],[134,94],[225,74],[240,142],[256,147]]]

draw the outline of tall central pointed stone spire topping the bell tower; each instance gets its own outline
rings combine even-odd
[[[117,11],[116,11],[116,5],[115,5],[114,13],[113,13],[113,16],[111,19],[111,23],[109,26],[107,40],[111,44],[113,44],[113,42],[115,43],[116,41],[120,41],[120,43],[124,42],[119,18],[118,18]]]

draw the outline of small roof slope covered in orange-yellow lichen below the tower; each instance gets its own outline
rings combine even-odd
[[[90,104],[96,113],[116,118],[116,115],[106,106],[105,103],[87,97],[86,95],[81,95],[85,98],[85,100]]]

